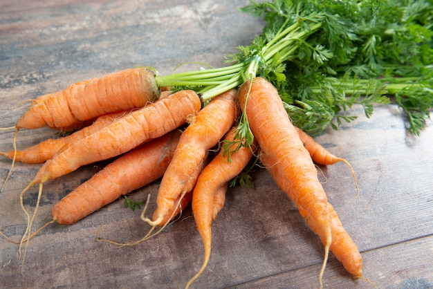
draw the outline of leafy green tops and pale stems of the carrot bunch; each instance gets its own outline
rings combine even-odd
[[[433,107],[432,0],[251,1],[241,10],[266,21],[250,46],[222,68],[157,76],[158,86],[193,89],[205,102],[260,76],[311,135],[354,120],[340,113],[353,104],[369,117],[374,104],[390,101],[407,116],[408,131],[421,133]],[[239,131],[251,135],[245,117]]]

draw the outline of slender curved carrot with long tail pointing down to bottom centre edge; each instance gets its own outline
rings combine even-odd
[[[235,136],[236,129],[230,129],[224,140],[230,142]],[[226,151],[221,150],[203,169],[194,187],[192,212],[201,239],[203,239],[205,257],[200,270],[188,281],[186,288],[203,273],[208,265],[212,244],[212,221],[224,205],[228,181],[241,173],[250,161],[253,151],[249,147],[241,147],[230,153],[230,161],[225,153]]]

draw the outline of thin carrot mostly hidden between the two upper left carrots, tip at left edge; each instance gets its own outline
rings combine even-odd
[[[103,127],[107,127],[107,125],[113,123],[117,118],[127,114],[127,112],[117,112],[117,113],[107,113],[106,115],[101,115],[98,117],[93,124],[88,127],[84,127],[75,133],[71,133],[64,138],[50,138],[48,140],[44,140],[39,142],[37,145],[33,145],[28,147],[22,151],[7,151],[0,152],[0,156],[4,156],[6,158],[14,158],[19,162],[25,162],[28,164],[36,164],[42,163],[50,158],[53,158],[55,153],[59,151],[64,145],[68,143],[75,142],[76,140],[80,140],[82,138],[86,138],[91,133],[95,131],[99,131]]]

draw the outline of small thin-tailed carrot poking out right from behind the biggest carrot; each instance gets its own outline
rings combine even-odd
[[[311,136],[308,136],[302,129],[299,127],[295,127],[298,135],[300,136],[300,139],[302,143],[304,144],[304,147],[310,153],[311,158],[313,161],[317,162],[320,165],[334,165],[337,162],[344,162],[346,164],[353,176],[353,179],[355,180],[356,189],[358,190],[358,195],[360,194],[360,189],[358,187],[358,181],[356,180],[355,171],[353,170],[351,164],[345,160],[344,158],[338,158],[337,156],[334,156],[332,153],[327,151],[322,145],[315,142]]]

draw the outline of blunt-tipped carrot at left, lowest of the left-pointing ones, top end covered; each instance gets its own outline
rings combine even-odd
[[[104,167],[62,198],[53,208],[53,220],[71,225],[122,195],[163,176],[181,131],[173,131],[132,149]]]

